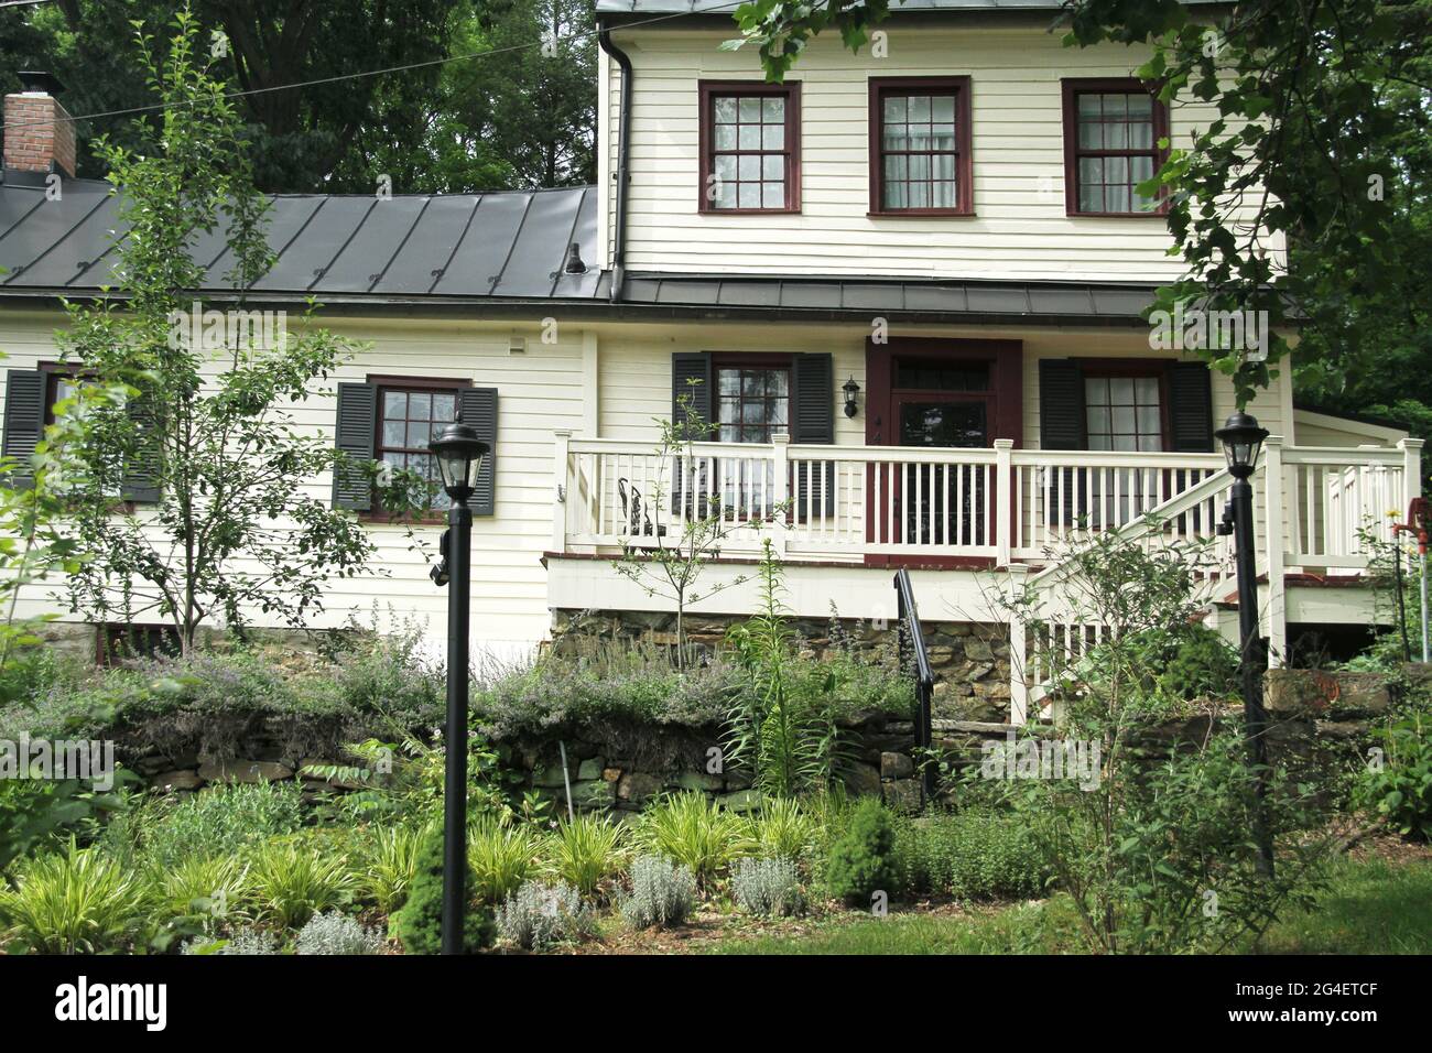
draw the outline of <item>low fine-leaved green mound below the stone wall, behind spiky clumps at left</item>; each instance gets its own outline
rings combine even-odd
[[[190,857],[232,855],[245,845],[304,824],[302,789],[294,782],[215,787],[180,802],[142,838],[143,852],[172,868]]]

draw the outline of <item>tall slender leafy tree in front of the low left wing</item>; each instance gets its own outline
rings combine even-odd
[[[185,9],[173,29],[166,53],[140,37],[165,103],[158,129],[142,122],[140,138],[153,138],[143,152],[97,143],[125,188],[119,284],[99,302],[70,304],[60,342],[82,383],[129,388],[125,405],[89,414],[86,471],[67,491],[92,553],[69,579],[72,603],[96,617],[165,619],[188,653],[203,622],[241,628],[265,613],[305,626],[332,579],[364,570],[372,544],[314,493],[314,477],[348,466],[291,414],[348,347],[316,327],[315,305],[291,325],[248,311],[242,292],[212,305],[195,292],[205,272],[190,248],[209,231],[226,232],[233,288],[268,269],[268,199],[253,189],[242,120],[198,20]]]

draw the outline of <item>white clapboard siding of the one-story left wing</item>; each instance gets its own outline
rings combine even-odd
[[[0,314],[0,351],[6,355],[0,360],[0,385],[4,370],[56,360],[59,352],[53,332],[62,324],[59,312]],[[362,381],[369,374],[415,380],[463,377],[480,387],[498,390],[495,514],[475,519],[473,530],[474,646],[491,645],[491,649],[508,653],[513,648],[541,640],[550,623],[541,554],[551,539],[553,433],[581,427],[581,332],[576,327],[570,331],[563,328],[558,342],[547,345],[533,330],[527,352],[510,355],[511,325],[483,327],[412,318],[326,318],[322,324],[361,345],[352,361],[341,367],[328,384],[291,408],[296,425],[326,441],[334,434],[335,385],[339,381]],[[331,480],[326,476],[314,479],[308,489],[326,501]],[[400,527],[372,524],[368,530],[378,546],[372,567],[387,573],[331,583],[326,613],[312,619],[311,626],[337,628],[348,623],[351,616],[368,625],[377,617],[379,628],[418,622],[435,640],[444,639],[447,592],[428,580],[442,527],[420,527],[427,542],[425,552],[410,552],[407,534]],[[20,615],[59,610],[52,592],[53,587],[26,590]],[[282,623],[255,616],[255,625]]]

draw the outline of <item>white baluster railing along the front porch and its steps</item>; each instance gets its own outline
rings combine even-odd
[[[682,537],[693,516],[720,517],[725,556],[753,556],[762,537],[792,562],[1004,567],[1018,583],[1053,583],[1061,554],[1097,533],[1130,542],[1214,539],[1229,476],[1219,454],[697,443],[690,456],[652,444],[557,434],[558,501],[551,547],[616,554]],[[1285,652],[1285,576],[1366,567],[1368,539],[1392,539],[1421,493],[1422,441],[1348,450],[1264,446],[1257,566],[1264,632]],[[1150,526],[1147,519],[1157,520]],[[1226,539],[1203,549],[1207,599],[1232,592]],[[1032,572],[1032,573],[1031,573]],[[1220,593],[1221,590],[1221,593]],[[1027,643],[1011,636],[1012,662]],[[1070,613],[1063,646],[1097,639]],[[1011,719],[1037,698],[1037,656],[1014,676]],[[1037,692],[1034,692],[1037,695]]]

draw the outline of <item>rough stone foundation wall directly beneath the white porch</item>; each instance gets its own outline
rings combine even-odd
[[[697,649],[722,646],[726,629],[745,620],[739,615],[687,615],[686,640]],[[947,721],[1004,722],[1010,719],[1010,633],[1004,625],[972,622],[922,622],[929,663],[935,672],[932,715]],[[831,649],[832,632],[853,646],[896,646],[894,622],[849,617],[793,617],[802,650],[821,658]],[[676,646],[676,615],[643,610],[554,610],[553,643],[561,649],[574,636]]]

